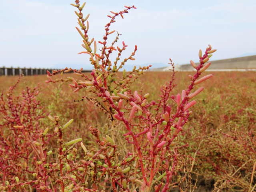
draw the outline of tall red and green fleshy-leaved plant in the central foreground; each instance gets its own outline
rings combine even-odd
[[[54,131],[43,129],[40,137],[35,137],[31,144],[35,170],[28,174],[33,174],[34,180],[22,181],[17,178],[16,183],[5,184],[2,189],[8,191],[17,186],[33,186],[38,191],[166,192],[176,187],[180,191],[188,191],[189,185],[196,188],[191,183],[193,166],[189,173],[185,172],[184,167],[188,164],[182,161],[180,153],[187,145],[180,146],[176,138],[189,131],[185,124],[192,113],[190,109],[196,104],[196,100],[192,98],[204,87],[196,88],[194,92],[192,90],[212,77],[211,74],[200,76],[210,66],[208,60],[216,50],[212,50],[210,45],[204,54],[200,50],[198,66],[190,61],[196,72],[189,76],[189,86],[175,96],[172,95],[176,86],[174,63],[170,60],[170,81],[160,89],[159,99],[152,101],[149,100],[150,94],[144,93],[142,89],[131,91],[131,84],[150,66],[138,69],[134,67],[130,72],[120,72],[125,62],[135,60],[137,46],[130,56],[121,60],[120,56],[126,50],[127,44],[122,42],[119,45],[120,34],[110,30],[118,16],[124,18],[128,10],[136,7],[125,6],[123,11],[111,11],[103,40],[96,42],[88,36],[89,14],[85,17],[82,14],[85,3],[81,5],[76,0],[72,6],[78,8],[75,13],[78,16],[79,28],[76,27],[76,30],[82,37],[82,46],[85,49],[79,54],[88,55],[94,69],[90,75],[84,74],[82,69],[53,70],[52,73],[48,72],[46,82],[69,82],[74,93],[84,93],[78,99],[93,102],[107,114],[110,124],[104,131],[100,131],[102,129],[95,125],[88,125],[92,142],[85,146],[86,141],[81,142],[82,138],[65,140],[64,130],[68,129],[73,120],[61,126],[59,116],[48,116],[54,124]],[[116,38],[109,43],[109,36],[115,33]],[[116,54],[114,61],[110,60],[111,54]],[[71,71],[74,73],[73,77],[53,79],[56,74]],[[80,132],[83,131],[81,127]],[[102,135],[102,132],[109,134]],[[49,150],[52,138],[57,138],[58,142],[55,152]],[[75,148],[79,142],[81,147]],[[55,158],[52,157],[53,154]],[[190,159],[194,160],[192,157]],[[185,181],[186,188],[182,188],[180,184]]]

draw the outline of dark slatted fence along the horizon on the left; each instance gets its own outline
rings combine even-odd
[[[28,75],[44,75],[47,74],[47,70],[52,72],[52,69],[32,69],[32,68],[8,68],[8,67],[2,67],[0,68],[0,76],[15,76],[24,74],[25,76]],[[88,70],[83,70],[82,72],[90,72]]]

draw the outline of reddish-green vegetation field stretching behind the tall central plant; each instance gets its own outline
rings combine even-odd
[[[189,74],[191,72],[175,74],[174,82],[178,88],[188,86]],[[253,191],[253,187],[255,189],[255,72],[214,72],[212,74],[214,77],[200,84],[205,88],[196,96],[197,103],[192,107],[192,114],[183,128],[186,134],[182,134],[174,140],[176,149],[180,149],[180,157],[175,176],[170,183],[170,187],[178,187],[171,188],[171,191],[176,189],[180,191],[180,188],[185,190],[188,176],[191,177],[192,189],[196,183],[195,191],[248,191],[249,188]],[[67,75],[64,74],[64,76]],[[132,84],[132,92],[142,90],[142,94],[150,93],[148,102],[157,100],[158,94],[162,94],[160,92],[161,85],[165,84],[170,76],[171,72],[145,72],[136,83]],[[68,84],[47,84],[44,82],[46,79],[46,76],[22,77],[14,88],[13,85],[18,77],[0,77],[0,88],[3,90],[0,102],[0,128],[2,130],[0,135],[0,178],[1,186],[6,186],[8,182],[9,185],[13,185],[12,190],[16,188],[18,191],[30,191],[34,187],[36,188],[36,182],[33,183],[33,181],[40,180],[38,177],[43,174],[43,170],[36,168],[39,166],[37,164],[40,164],[37,155],[40,156],[41,149],[36,145],[32,146],[31,142],[40,142],[40,135],[46,127],[49,128],[48,134],[50,135],[45,139],[48,144],[47,152],[52,150],[52,155],[47,158],[50,164],[53,163],[53,169],[54,162],[58,164],[56,130],[54,131],[54,125],[47,118],[48,114],[59,116],[60,121],[58,122],[63,125],[70,119],[74,119],[74,122],[63,132],[64,142],[82,138],[86,148],[95,152],[95,138],[91,134],[91,128],[95,127],[100,131],[101,136],[114,135],[119,158],[124,156],[127,150],[133,151],[131,144],[128,144],[125,137],[122,136],[123,124],[116,123],[113,129],[114,134],[112,134],[108,115],[96,107],[93,100],[81,100],[82,96],[90,98],[91,93],[86,93],[85,90],[73,93],[73,89],[68,87]],[[13,95],[8,97],[10,89]],[[174,87],[173,94],[178,94],[178,91]],[[74,102],[75,100],[76,102]],[[168,102],[174,103],[174,100],[170,98]],[[14,128],[19,123],[23,126]],[[70,152],[75,153],[74,162],[78,162],[83,159],[84,151],[78,144],[75,147],[75,152],[75,148]],[[194,168],[190,174],[196,151]],[[133,166],[135,168],[136,164]],[[160,170],[158,176],[161,175],[161,172]],[[50,176],[51,179],[49,179],[50,177],[46,179],[49,189],[54,188],[58,183],[58,174],[54,174]],[[140,173],[133,176],[139,179],[139,175]],[[15,177],[19,178],[19,182],[30,183],[30,186],[24,184],[23,188],[22,185],[16,185]],[[157,176],[155,177],[157,180]],[[56,181],[53,181],[54,178]],[[105,178],[104,181],[109,179]],[[51,180],[52,182],[50,182]],[[90,178],[87,177],[87,180],[89,181]],[[135,182],[136,184],[131,182],[130,188],[133,190],[140,188],[141,181]],[[158,180],[156,184],[159,185],[161,182],[165,182],[165,180]],[[66,186],[70,186],[70,184],[72,184],[72,180],[65,183]],[[110,183],[101,184],[103,185],[102,190],[110,191],[108,189],[111,186]],[[134,186],[132,187],[132,185]]]

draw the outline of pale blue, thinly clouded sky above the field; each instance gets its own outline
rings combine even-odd
[[[0,66],[92,67],[88,55],[77,55],[84,48],[75,29],[73,0],[0,2]],[[208,44],[218,50],[212,60],[256,54],[255,0],[88,0],[83,13],[90,13],[89,38],[102,41],[109,11],[124,5],[137,9],[118,18],[110,30],[122,34],[119,46],[123,40],[128,45],[123,58],[138,46],[129,66],[162,67],[169,58],[176,64],[197,62],[198,50]],[[114,38],[111,34],[109,40]]]

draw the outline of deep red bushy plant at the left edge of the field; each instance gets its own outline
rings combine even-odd
[[[0,124],[0,129],[4,130],[0,132],[0,173],[3,174],[3,185],[6,182],[14,184],[14,175],[27,180],[26,174],[30,173],[27,168],[28,157],[32,154],[31,146],[34,146],[31,138],[39,138],[39,120],[46,115],[43,106],[36,100],[38,86],[33,89],[26,87],[18,96],[14,94],[20,79],[21,76],[10,87],[6,98],[3,92],[0,98],[0,114],[1,119],[4,119]]]

